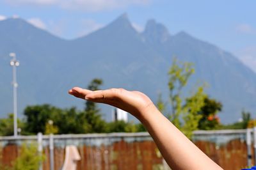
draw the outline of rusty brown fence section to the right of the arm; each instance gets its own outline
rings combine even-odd
[[[223,169],[256,164],[256,128],[194,132],[193,142]]]

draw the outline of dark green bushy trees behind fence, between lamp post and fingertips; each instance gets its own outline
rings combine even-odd
[[[35,105],[26,107],[24,114],[23,134],[84,134],[89,131],[84,111],[77,111],[75,107],[60,109],[48,104]]]

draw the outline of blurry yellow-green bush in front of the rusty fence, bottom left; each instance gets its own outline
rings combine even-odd
[[[40,162],[44,160],[44,155],[37,151],[36,144],[22,144],[20,155],[13,162],[13,170],[35,170],[39,169]]]

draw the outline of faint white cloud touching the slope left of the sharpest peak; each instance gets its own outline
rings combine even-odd
[[[79,25],[79,27],[81,27],[81,30],[78,31],[77,36],[88,35],[104,26],[103,24],[99,24],[92,19],[82,19],[80,20]]]

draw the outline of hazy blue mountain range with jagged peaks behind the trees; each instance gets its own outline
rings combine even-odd
[[[104,80],[103,88],[140,90],[154,101],[161,92],[168,101],[167,72],[173,56],[195,65],[186,94],[198,82],[207,82],[207,93],[224,105],[220,113],[224,123],[237,121],[243,108],[256,111],[256,74],[235,56],[185,32],[170,35],[155,20],[148,20],[145,31],[138,33],[124,14],[75,40],[63,40],[22,19],[0,21],[2,117],[12,112],[10,52],[16,52],[20,61],[19,114],[26,105],[44,103],[82,109],[83,101],[67,91],[73,86],[86,87],[95,77]],[[111,112],[109,107],[102,109]]]

